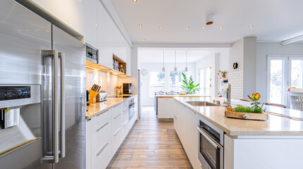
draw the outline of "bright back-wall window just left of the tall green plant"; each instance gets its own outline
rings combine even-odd
[[[181,85],[183,84],[183,75],[182,73],[184,73],[186,75],[185,72],[183,71],[178,71],[178,72],[174,72],[171,71],[170,72],[170,91],[174,91],[174,92],[182,92],[182,88]]]

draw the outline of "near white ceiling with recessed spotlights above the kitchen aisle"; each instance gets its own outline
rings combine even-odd
[[[133,43],[219,44],[249,36],[280,42],[303,35],[302,0],[111,1]],[[210,13],[215,23],[206,26]]]

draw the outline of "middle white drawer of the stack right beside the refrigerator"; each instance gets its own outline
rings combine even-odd
[[[97,130],[93,130],[91,140],[91,152],[94,157],[107,142],[112,142],[112,123],[106,122]]]

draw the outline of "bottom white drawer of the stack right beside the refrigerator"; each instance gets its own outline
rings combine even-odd
[[[102,145],[101,149],[98,149],[97,154],[93,156],[93,169],[106,168],[112,159],[112,143],[106,142]]]

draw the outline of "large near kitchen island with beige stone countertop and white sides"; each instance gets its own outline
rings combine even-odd
[[[213,143],[217,151],[208,154],[210,158],[206,161],[210,165],[225,169],[303,168],[303,121],[271,114],[268,120],[225,118],[225,106],[193,106],[187,102],[206,101],[213,104],[213,99],[207,97],[176,97],[174,101],[175,105],[171,105],[177,109],[174,112],[174,127],[194,168],[208,168],[199,160],[199,154],[203,154],[200,146],[208,149],[206,151],[212,149],[210,144],[205,143],[207,139],[203,139],[205,132],[198,127],[201,119],[224,133],[220,140],[222,145]],[[232,100],[232,104],[248,103]],[[222,154],[218,153],[220,149],[224,149]]]

